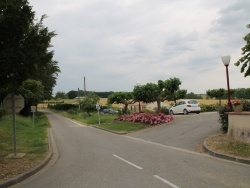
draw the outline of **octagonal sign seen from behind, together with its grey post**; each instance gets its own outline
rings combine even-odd
[[[19,113],[24,107],[24,99],[21,95],[9,93],[3,100],[3,106],[6,112],[12,113],[13,119],[13,134],[14,134],[14,157],[16,152],[16,113]]]

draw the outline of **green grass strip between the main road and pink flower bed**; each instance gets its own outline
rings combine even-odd
[[[100,114],[100,125],[99,125],[99,119],[97,113],[92,113],[91,115],[88,115],[86,113],[78,113],[78,114],[69,114],[67,112],[58,112],[58,113],[70,119],[79,121],[83,124],[99,126],[101,128],[110,131],[129,133],[132,131],[137,131],[150,127],[150,125],[145,125],[140,123],[114,121],[117,115],[113,114]]]

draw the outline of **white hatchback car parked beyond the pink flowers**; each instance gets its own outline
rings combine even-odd
[[[200,104],[196,100],[180,100],[169,109],[170,114],[184,114],[201,112]]]

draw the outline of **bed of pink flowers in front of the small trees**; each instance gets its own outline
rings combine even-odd
[[[121,115],[115,118],[115,121],[129,121],[144,123],[150,125],[158,125],[162,123],[168,123],[173,120],[173,115],[165,115],[163,113],[159,114],[148,114],[148,113],[133,113],[130,115]]]

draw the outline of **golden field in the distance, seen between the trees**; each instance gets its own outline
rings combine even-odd
[[[200,104],[218,104],[219,100],[214,99],[196,99]],[[64,99],[64,100],[51,100],[51,101],[44,101],[44,104],[39,104],[38,108],[47,108],[48,103],[67,103],[67,104],[74,104],[77,103],[77,99]],[[107,105],[107,98],[101,98],[99,103],[103,106]],[[173,104],[173,101],[165,101],[164,103],[171,105]],[[227,100],[221,100],[222,104],[227,104]],[[119,108],[121,104],[113,104],[112,107]]]

